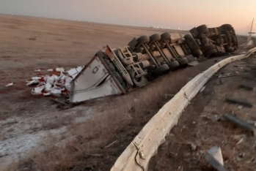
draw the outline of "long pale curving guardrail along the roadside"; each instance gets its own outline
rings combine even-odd
[[[165,142],[165,137],[169,134],[172,127],[178,123],[181,113],[189,104],[190,100],[197,95],[202,86],[223,66],[246,58],[255,52],[255,50],[256,47],[249,50],[246,54],[232,56],[219,61],[219,63],[211,66],[205,72],[200,73],[189,81],[143,127],[117,159],[111,171],[147,170],[151,157],[156,155],[159,145]]]

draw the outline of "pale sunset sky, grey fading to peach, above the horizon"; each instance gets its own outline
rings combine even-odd
[[[239,34],[256,17],[256,0],[0,0],[0,13],[188,29],[230,23]]]

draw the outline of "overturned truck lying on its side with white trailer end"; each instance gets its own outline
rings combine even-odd
[[[238,48],[230,24],[202,25],[187,34],[153,34],[128,45],[99,50],[71,82],[70,103],[113,94],[126,94],[181,67],[195,66],[202,56],[222,56]]]

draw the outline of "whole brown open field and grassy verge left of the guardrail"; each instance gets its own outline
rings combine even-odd
[[[47,97],[32,96],[25,82],[57,66],[87,64],[106,45],[120,47],[134,37],[162,31],[0,15],[0,170],[10,164],[8,170],[109,170],[169,100],[164,94],[175,94],[216,59],[169,73],[131,94],[61,111]],[[11,82],[15,85],[6,88]]]

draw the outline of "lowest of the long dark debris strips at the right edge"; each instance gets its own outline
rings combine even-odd
[[[248,122],[241,120],[240,118],[236,117],[233,114],[227,114],[224,115],[224,118],[226,118],[227,120],[235,123],[238,126],[241,126],[245,129],[248,129],[249,131],[252,131],[253,134],[256,136],[256,129],[254,126],[250,125]]]

